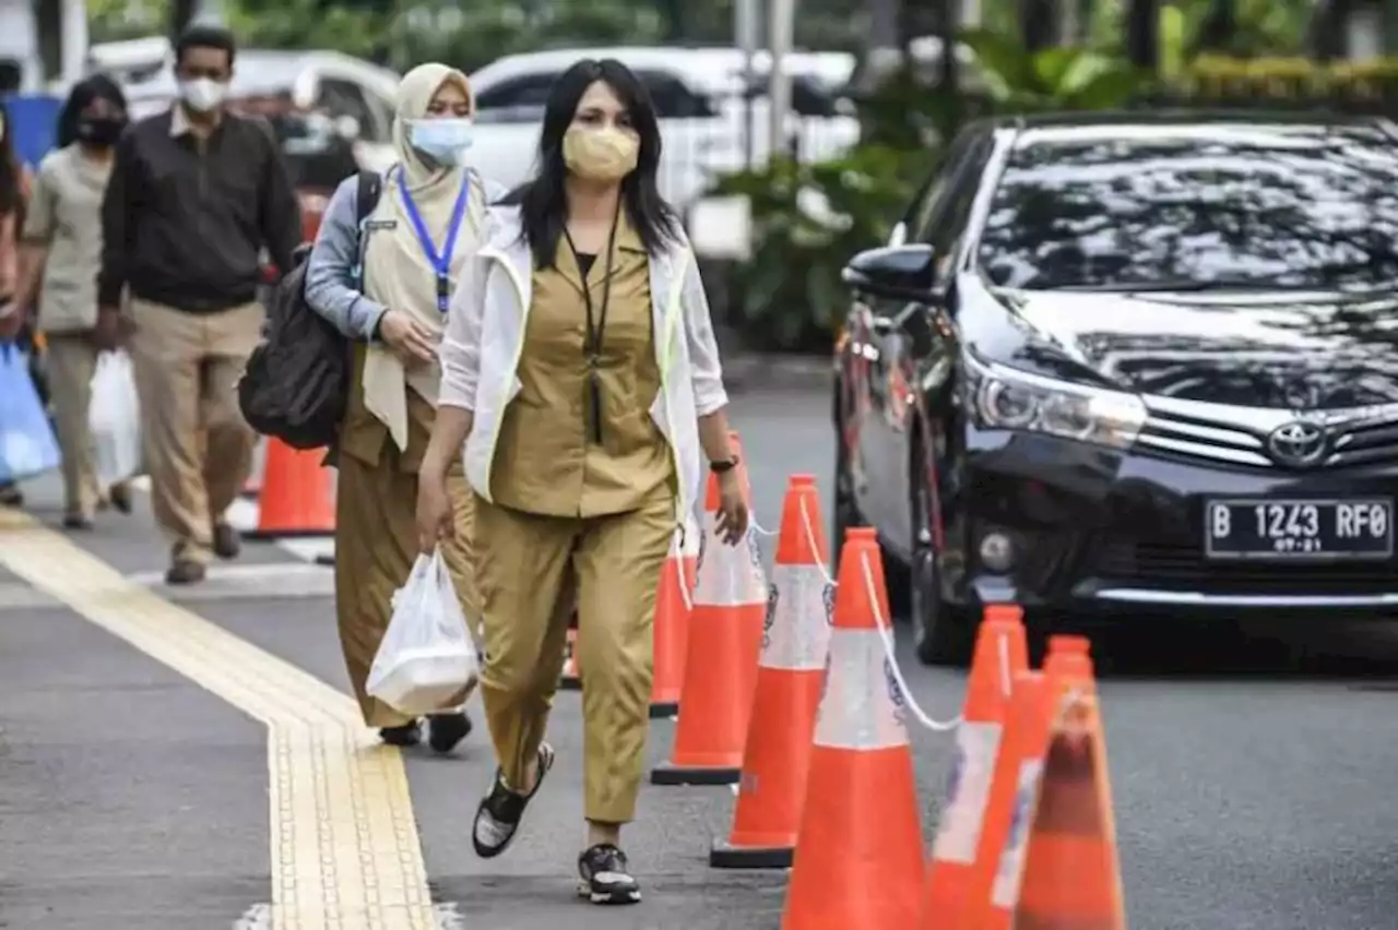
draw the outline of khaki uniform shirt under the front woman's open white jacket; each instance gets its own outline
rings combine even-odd
[[[611,263],[597,256],[586,278],[597,320],[612,267],[598,363],[601,443],[584,349],[583,275],[565,239],[555,267],[533,275],[521,388],[505,409],[491,466],[492,497],[503,507],[548,517],[621,514],[674,479],[670,447],[650,418],[660,392],[650,261],[625,214],[619,223]]]

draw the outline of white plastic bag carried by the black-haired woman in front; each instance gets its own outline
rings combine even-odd
[[[475,642],[442,552],[418,556],[393,595],[393,617],[373,656],[365,690],[407,716],[424,716],[475,677]]]

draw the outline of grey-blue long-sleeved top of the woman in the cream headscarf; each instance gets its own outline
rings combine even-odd
[[[487,202],[507,193],[492,180],[481,183]],[[366,229],[361,236],[355,223],[358,215],[359,179],[352,175],[340,182],[320,219],[316,244],[306,260],[306,303],[347,338],[372,342],[387,307],[359,290],[363,243],[373,230]]]

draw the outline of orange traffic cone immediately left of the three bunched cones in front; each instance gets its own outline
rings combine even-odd
[[[917,924],[923,828],[902,694],[885,670],[875,610],[888,623],[878,540],[871,528],[850,529],[781,930]]]

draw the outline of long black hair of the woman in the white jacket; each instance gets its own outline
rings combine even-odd
[[[524,225],[524,239],[538,268],[551,268],[558,256],[558,240],[568,221],[563,195],[563,134],[573,123],[577,102],[596,81],[605,81],[626,108],[630,127],[640,137],[636,170],[621,184],[622,207],[646,251],[656,254],[667,240],[678,239],[679,218],[660,195],[660,121],[650,92],[630,68],[615,59],[583,59],[554,81],[544,105],[544,128],[538,140],[538,170],[534,180],[506,198],[517,202]]]

